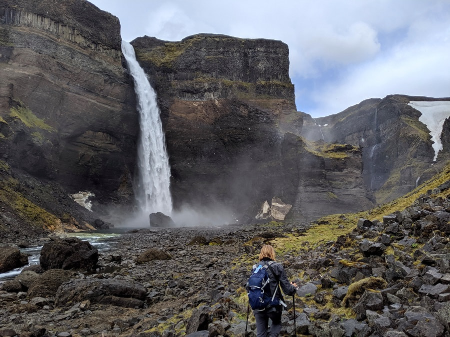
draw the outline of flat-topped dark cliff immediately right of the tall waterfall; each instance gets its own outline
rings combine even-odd
[[[297,139],[302,115],[286,44],[212,34],[179,42],[144,36],[131,44],[158,93],[175,206],[219,202],[256,215],[277,196],[294,206],[291,218],[309,219],[371,204],[363,188],[350,201],[349,190],[333,186],[337,171],[354,171],[355,184],[363,185],[357,154],[340,166]],[[314,168],[305,164],[308,156]],[[330,197],[335,208],[325,206]]]

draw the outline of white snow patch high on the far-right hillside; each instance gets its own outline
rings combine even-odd
[[[410,101],[408,105],[420,111],[422,115],[419,121],[426,125],[431,140],[434,142],[434,158],[436,161],[437,153],[442,150],[440,134],[442,133],[442,125],[446,118],[450,117],[450,101]]]

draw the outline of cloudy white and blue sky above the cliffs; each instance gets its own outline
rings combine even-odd
[[[281,40],[298,111],[389,94],[450,96],[450,0],[90,0],[125,41],[196,33]]]

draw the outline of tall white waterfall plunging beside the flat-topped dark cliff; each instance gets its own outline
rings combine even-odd
[[[134,80],[137,110],[140,113],[138,174],[134,179],[134,194],[142,212],[169,215],[172,212],[170,167],[156,93],[136,60],[133,46],[122,41],[122,52]]]

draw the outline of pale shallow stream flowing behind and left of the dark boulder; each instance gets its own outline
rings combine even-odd
[[[127,229],[129,230],[129,229]],[[104,254],[110,250],[111,242],[119,240],[120,233],[107,233],[107,232],[95,232],[95,233],[64,233],[64,237],[73,236],[80,240],[89,241],[89,243],[98,249],[98,254]],[[23,248],[20,252],[28,255],[28,264],[26,266],[16,268],[6,273],[0,273],[0,284],[6,280],[12,280],[19,275],[25,267],[38,265],[40,250],[42,246]]]

